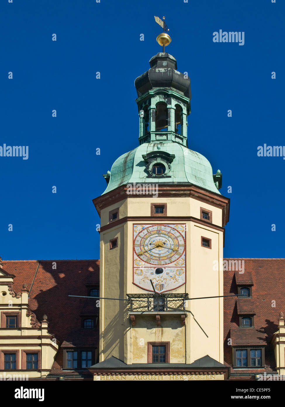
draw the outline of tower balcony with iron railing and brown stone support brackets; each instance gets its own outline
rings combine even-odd
[[[185,325],[188,294],[127,294],[127,297],[132,326],[135,326],[135,315],[155,315],[157,326],[161,326],[160,315],[180,315],[181,323]]]

